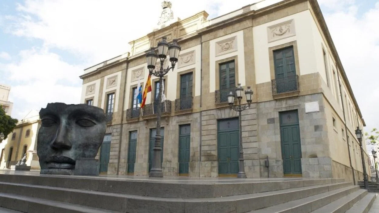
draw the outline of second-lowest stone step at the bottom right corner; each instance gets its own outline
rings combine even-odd
[[[367,190],[357,190],[351,194],[348,194],[338,200],[331,202],[311,213],[344,213],[349,210],[354,204],[366,196]]]

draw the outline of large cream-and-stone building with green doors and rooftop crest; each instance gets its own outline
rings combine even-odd
[[[162,6],[164,14],[172,13],[167,2]],[[254,92],[241,120],[247,177],[362,180],[354,131],[365,122],[316,0],[265,0],[207,17],[202,11],[183,20],[168,18],[131,41],[130,52],[80,76],[81,102],[111,115],[98,155],[100,172],[149,172],[158,78],[152,77],[143,109],[135,89],[138,80],[144,87],[149,75],[147,50],[165,36],[182,47],[163,82],[165,176],[238,173],[238,114],[229,109],[226,95],[241,83]],[[368,162],[366,151],[364,158]]]

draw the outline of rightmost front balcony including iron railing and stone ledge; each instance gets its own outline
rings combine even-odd
[[[300,93],[298,75],[273,79],[271,86],[274,99],[298,96]]]

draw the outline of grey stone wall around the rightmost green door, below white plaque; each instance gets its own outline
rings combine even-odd
[[[305,103],[318,101],[319,111],[305,113]],[[322,94],[258,103],[258,141],[261,177],[283,177],[279,112],[298,110],[303,177],[330,177],[329,141]],[[269,169],[264,167],[269,158]],[[328,158],[324,158],[328,157]],[[315,158],[315,159],[312,159]],[[316,166],[317,165],[317,166]]]

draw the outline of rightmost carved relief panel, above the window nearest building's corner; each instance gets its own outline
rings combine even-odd
[[[268,42],[277,41],[279,39],[294,36],[296,34],[295,23],[293,19],[270,26],[267,28],[267,31]]]

